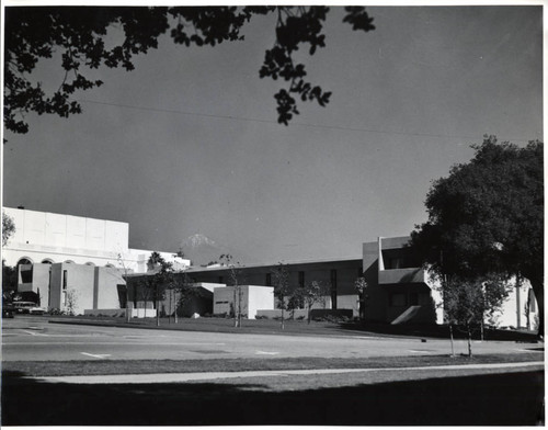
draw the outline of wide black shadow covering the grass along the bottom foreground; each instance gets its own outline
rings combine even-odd
[[[534,426],[544,372],[266,392],[261,385],[52,384],[5,372],[4,426]]]

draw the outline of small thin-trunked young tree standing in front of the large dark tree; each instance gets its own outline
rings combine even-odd
[[[453,327],[461,328],[468,340],[468,357],[472,357],[472,331],[483,327],[486,318],[500,310],[509,295],[503,279],[460,280],[456,276],[444,281],[443,299],[445,317],[449,324],[453,350]]]

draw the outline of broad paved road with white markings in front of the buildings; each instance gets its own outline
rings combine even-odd
[[[456,353],[467,351],[465,341],[455,344]],[[515,342],[473,344],[477,354],[523,353],[535,349],[538,346]],[[47,317],[2,321],[3,361],[368,358],[449,352],[447,340],[161,331],[49,324]]]

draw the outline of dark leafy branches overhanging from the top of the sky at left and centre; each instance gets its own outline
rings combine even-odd
[[[313,55],[326,44],[322,25],[327,7],[10,7],[5,8],[4,47],[4,124],[14,133],[26,133],[24,114],[57,114],[68,117],[80,113],[72,97],[76,91],[103,84],[85,77],[102,66],[133,70],[134,57],[158,47],[160,35],[170,32],[175,44],[215,46],[226,41],[243,39],[244,24],[258,15],[275,14],[274,46],[266,49],[261,78],[285,81],[274,98],[278,123],[287,125],[298,114],[296,98],[324,106],[331,92],[305,79],[304,64],[294,55],[307,47]],[[343,22],[353,30],[375,29],[365,8],[345,8]],[[109,46],[106,36],[113,27],[123,32],[122,41]],[[46,94],[30,75],[43,58],[60,55],[59,88]]]

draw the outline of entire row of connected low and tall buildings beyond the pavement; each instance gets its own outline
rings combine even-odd
[[[147,262],[152,252],[128,247],[127,223],[23,208],[4,208],[4,212],[13,218],[15,233],[2,249],[2,260],[7,265],[18,268],[18,291],[35,293],[41,306],[70,309],[75,314],[115,312],[125,309],[129,294],[130,307],[153,307],[151,299],[138,297],[137,290],[126,286],[126,280],[133,280],[136,287],[146,280]],[[443,324],[439,285],[421,267],[408,242],[409,237],[378,238],[363,244],[362,257],[289,262],[284,264],[289,287],[295,290],[317,281],[327,290],[322,304],[316,307],[344,309],[366,321]],[[190,260],[171,252],[160,254],[173,263],[175,271],[184,271],[184,276],[203,290],[198,295],[201,298],[189,305],[184,315],[210,314],[215,312],[215,305],[219,309],[233,307],[231,268],[190,267]],[[236,268],[238,284],[250,285],[250,288],[272,287],[273,270],[277,267],[279,264],[274,263]],[[367,283],[363,295],[358,295],[355,287],[358,278],[364,278]],[[246,290],[250,297],[253,288]],[[270,297],[272,288],[267,291]],[[216,304],[215,294],[226,297],[217,299],[219,303]],[[251,317],[259,310],[277,307],[271,298],[251,298],[246,303],[258,304],[258,307],[253,304],[253,309],[248,309],[253,314]],[[172,314],[176,301],[176,296],[167,296],[160,305],[160,313]],[[488,322],[536,328],[538,307],[526,280],[513,283],[501,312]]]

